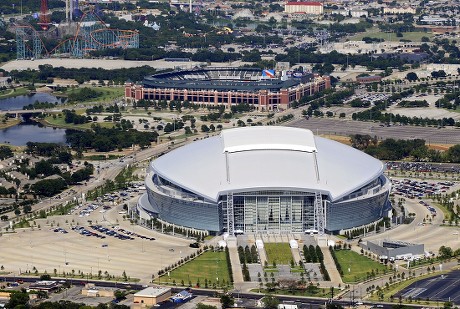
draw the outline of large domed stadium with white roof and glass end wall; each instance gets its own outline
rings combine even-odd
[[[229,129],[152,161],[141,220],[212,234],[337,233],[387,215],[384,164],[289,127]]]

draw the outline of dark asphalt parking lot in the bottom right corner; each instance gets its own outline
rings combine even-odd
[[[452,301],[460,303],[460,271],[456,270],[445,275],[439,275],[417,281],[396,296],[403,298],[420,299],[431,301]]]

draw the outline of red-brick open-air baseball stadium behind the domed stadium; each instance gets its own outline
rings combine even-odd
[[[128,82],[125,99],[189,101],[200,105],[250,104],[258,110],[290,107],[303,96],[331,87],[329,76],[256,68],[203,68],[159,73]]]

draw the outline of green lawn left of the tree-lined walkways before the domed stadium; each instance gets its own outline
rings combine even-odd
[[[199,280],[200,286],[204,287],[204,280],[208,279],[209,287],[212,287],[216,278],[219,278],[220,283],[225,280],[228,284],[230,280],[225,252],[207,251],[193,261],[171,271],[169,277],[168,274],[162,276],[161,282],[173,284],[175,280],[177,285],[181,285],[183,281],[184,285],[191,283],[192,286],[196,286]]]

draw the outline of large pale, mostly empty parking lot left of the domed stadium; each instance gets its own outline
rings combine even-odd
[[[126,271],[128,277],[147,283],[158,270],[196,251],[189,247],[192,241],[131,225],[119,212],[122,205],[83,218],[77,212],[37,219],[33,229],[5,233],[0,265],[14,274],[33,273],[34,268],[52,274],[56,269],[84,278],[99,271],[121,277]]]

